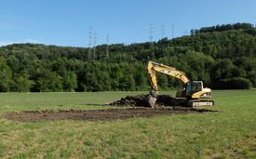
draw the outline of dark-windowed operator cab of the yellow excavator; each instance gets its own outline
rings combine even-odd
[[[186,98],[199,99],[199,95],[202,92],[202,81],[191,81],[186,85]]]

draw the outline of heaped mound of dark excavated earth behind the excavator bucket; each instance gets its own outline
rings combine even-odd
[[[110,106],[129,106],[129,107],[144,107],[143,97],[148,95],[138,95],[138,96],[127,96],[125,99],[117,100],[113,103],[110,103]],[[156,102],[155,108],[172,106],[176,98],[170,95],[159,95]]]

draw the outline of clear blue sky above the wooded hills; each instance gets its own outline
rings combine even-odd
[[[1,0],[0,46],[99,46],[107,35],[109,45],[157,42],[218,24],[254,26],[255,14],[256,0]]]

